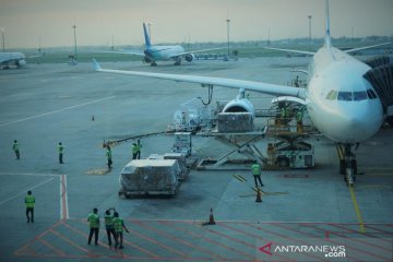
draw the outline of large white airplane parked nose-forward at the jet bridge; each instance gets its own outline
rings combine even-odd
[[[342,156],[340,171],[346,175],[347,184],[353,186],[357,172],[354,150],[374,135],[388,116],[393,116],[393,84],[382,84],[386,74],[393,75],[393,66],[390,59],[377,59],[369,66],[348,55],[380,45],[345,51],[334,48],[330,35],[329,0],[325,0],[325,5],[324,45],[317,52],[279,49],[312,56],[310,71],[307,72],[307,88],[223,78],[110,70],[100,68],[94,60],[95,70],[239,88],[239,96],[224,108],[227,111],[253,112],[252,105],[242,95],[245,90],[276,95],[283,102],[299,103],[306,106],[313,126],[337,143]]]

